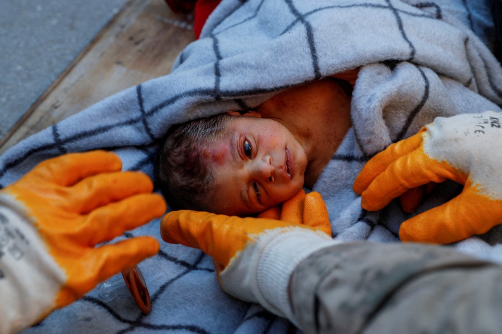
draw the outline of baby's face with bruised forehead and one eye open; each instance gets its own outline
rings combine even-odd
[[[254,117],[236,117],[229,127],[227,138],[204,151],[215,181],[214,212],[261,212],[302,189],[307,154],[286,127]]]

